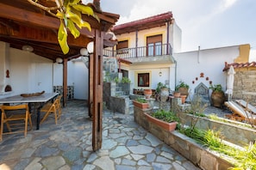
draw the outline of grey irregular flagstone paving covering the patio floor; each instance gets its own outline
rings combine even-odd
[[[69,101],[58,124],[47,118],[39,131],[28,131],[26,138],[4,135],[0,169],[200,169],[136,124],[133,115],[118,112],[103,111],[103,145],[93,152],[91,120],[84,103]]]

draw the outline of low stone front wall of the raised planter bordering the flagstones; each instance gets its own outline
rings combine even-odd
[[[147,112],[134,107],[134,121],[140,124],[144,129],[150,131],[155,137],[164,141],[167,145],[177,150],[181,155],[190,160],[192,163],[207,170],[222,170],[233,167],[233,165],[221,158],[219,155],[210,152],[207,148],[196,143],[190,137],[186,137],[178,131],[166,131],[156,124],[147,120]]]

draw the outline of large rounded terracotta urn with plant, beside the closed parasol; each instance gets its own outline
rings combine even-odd
[[[222,107],[225,101],[225,94],[222,91],[221,84],[210,85],[209,89],[212,90],[210,99],[213,106]]]

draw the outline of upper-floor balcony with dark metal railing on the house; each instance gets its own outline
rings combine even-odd
[[[103,50],[104,57],[115,57],[128,60],[133,64],[173,64],[172,46],[163,44],[157,46],[140,46],[125,48],[118,51]]]

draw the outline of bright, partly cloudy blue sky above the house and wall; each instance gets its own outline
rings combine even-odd
[[[256,52],[256,0],[101,0],[101,7],[121,15],[117,24],[172,11],[184,52],[241,44]]]

